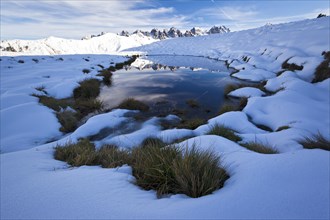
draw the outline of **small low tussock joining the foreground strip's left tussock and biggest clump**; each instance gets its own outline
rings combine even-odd
[[[131,164],[131,155],[128,150],[119,149],[114,145],[105,145],[96,152],[96,164],[103,168],[116,168]]]

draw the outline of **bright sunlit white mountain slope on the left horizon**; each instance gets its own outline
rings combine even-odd
[[[56,37],[41,40],[5,40],[0,46],[2,56],[112,54],[155,41],[142,34],[124,37],[108,33],[88,40],[68,40]]]

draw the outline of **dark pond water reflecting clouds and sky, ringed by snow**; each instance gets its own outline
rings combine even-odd
[[[238,82],[229,76],[231,71],[223,61],[201,57],[145,57],[116,71],[112,86],[104,86],[100,98],[108,108],[135,98],[150,106],[148,116],[184,113],[187,118],[207,119],[217,115],[225,102],[224,87]],[[192,108],[187,100],[199,107]]]

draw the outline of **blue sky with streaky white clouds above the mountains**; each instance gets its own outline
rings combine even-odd
[[[329,15],[329,0],[0,0],[1,40],[225,25],[239,31]]]

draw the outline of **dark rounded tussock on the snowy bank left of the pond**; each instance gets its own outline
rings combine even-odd
[[[100,81],[97,79],[86,79],[79,82],[79,87],[73,90],[75,99],[96,98],[100,94]]]

